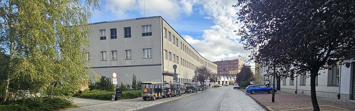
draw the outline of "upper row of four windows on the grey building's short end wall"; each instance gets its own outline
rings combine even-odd
[[[123,28],[124,38],[131,38],[131,27]],[[142,36],[152,36],[152,25],[144,25],[142,26]],[[110,37],[111,39],[117,38],[117,28],[110,29]],[[100,40],[106,39],[106,30],[100,30]]]

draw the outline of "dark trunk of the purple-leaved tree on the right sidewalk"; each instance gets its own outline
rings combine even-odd
[[[311,100],[313,105],[313,111],[320,111],[316,94],[316,76],[318,75],[318,70],[311,71]]]

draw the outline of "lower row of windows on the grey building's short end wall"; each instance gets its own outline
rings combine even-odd
[[[125,50],[126,56],[125,59],[132,59],[132,50]],[[111,60],[117,60],[118,56],[117,56],[117,51],[111,51]],[[86,53],[86,60],[90,60],[89,58],[90,54],[89,52]],[[148,49],[143,49],[143,54],[142,54],[143,58],[152,58],[152,49],[148,48]],[[101,60],[107,60],[107,51],[101,51]]]

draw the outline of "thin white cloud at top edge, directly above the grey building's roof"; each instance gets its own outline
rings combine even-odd
[[[113,12],[118,17],[126,17],[127,11],[139,11],[144,16],[163,16],[177,19],[181,14],[192,14],[194,2],[190,0],[108,0],[105,9]]]

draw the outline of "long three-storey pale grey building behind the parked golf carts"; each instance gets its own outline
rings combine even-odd
[[[178,83],[192,83],[194,70],[202,65],[217,74],[217,65],[203,58],[161,16],[92,25],[87,59],[100,76],[116,72],[118,83],[131,84],[133,74],[141,81],[173,83],[174,64]]]

